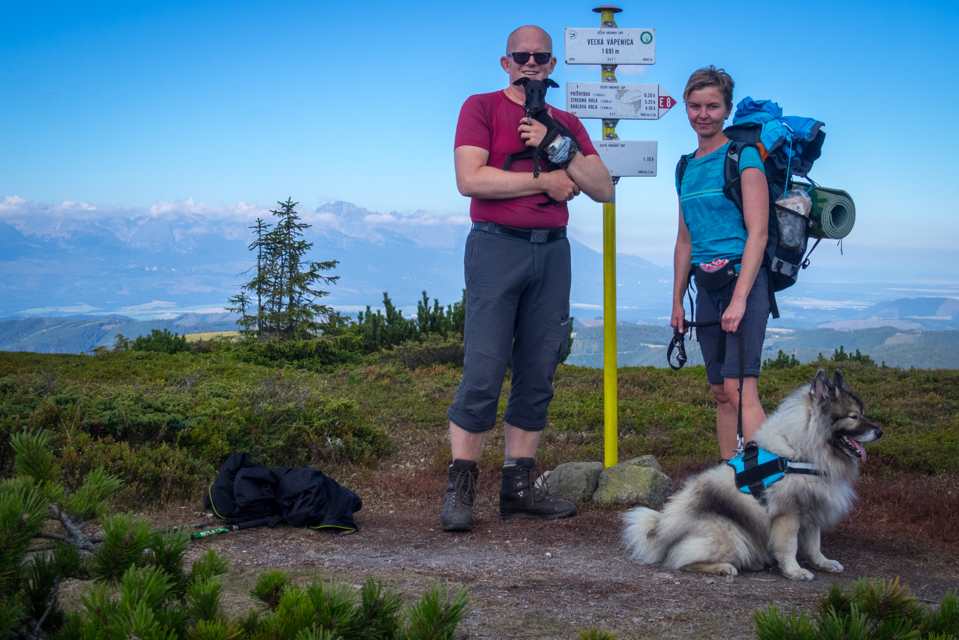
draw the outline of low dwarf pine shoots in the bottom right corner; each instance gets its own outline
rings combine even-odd
[[[861,578],[847,589],[833,582],[811,617],[795,608],[784,616],[770,605],[753,619],[759,640],[956,640],[959,599],[948,591],[938,607],[930,607],[898,578]]]

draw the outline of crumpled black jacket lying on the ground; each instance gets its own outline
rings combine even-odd
[[[238,453],[223,462],[203,506],[238,522],[279,516],[293,527],[355,530],[353,514],[363,500],[319,469],[270,469]]]

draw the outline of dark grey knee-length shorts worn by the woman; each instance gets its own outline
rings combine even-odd
[[[735,285],[735,283],[734,283]],[[769,290],[766,283],[766,271],[760,269],[753,282],[753,288],[746,297],[746,313],[739,322],[739,336],[745,342],[746,364],[744,372],[754,378],[760,377],[762,343],[766,338],[766,320],[769,319]],[[723,290],[699,288],[696,292],[696,320],[709,322],[720,320],[720,304]],[[723,307],[725,310],[725,307]],[[706,378],[711,385],[720,385],[724,378],[739,377],[739,346],[735,333],[726,334],[726,361],[717,362],[720,330],[718,326],[696,329],[699,349],[706,363]]]

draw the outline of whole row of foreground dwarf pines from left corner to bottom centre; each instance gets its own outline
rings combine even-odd
[[[288,584],[281,571],[250,592],[263,611],[228,620],[222,608],[226,557],[208,550],[189,570],[186,531],[152,531],[129,514],[105,515],[120,482],[97,469],[71,490],[46,430],[14,435],[16,476],[0,484],[0,640],[452,640],[466,590],[434,585],[416,603],[367,580]],[[61,533],[44,529],[58,522]],[[101,538],[83,533],[100,521]],[[31,547],[37,539],[51,543]],[[82,609],[60,610],[62,581],[91,581]]]

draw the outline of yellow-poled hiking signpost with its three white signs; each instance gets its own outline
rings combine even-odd
[[[566,63],[599,64],[599,83],[566,83],[566,107],[580,118],[602,119],[596,151],[613,177],[613,199],[602,205],[603,262],[603,458],[619,462],[619,413],[616,371],[616,184],[625,176],[655,176],[655,141],[620,140],[620,119],[658,120],[676,101],[659,84],[620,83],[618,64],[654,64],[656,30],[620,29],[613,19],[619,7],[602,5],[599,29],[567,29]]]

